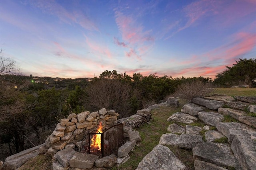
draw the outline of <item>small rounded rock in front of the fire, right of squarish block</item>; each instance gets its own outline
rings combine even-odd
[[[117,163],[117,158],[114,154],[111,154],[109,156],[105,156],[103,158],[97,159],[95,161],[95,166],[98,168],[101,167],[106,167],[106,168],[111,168]]]

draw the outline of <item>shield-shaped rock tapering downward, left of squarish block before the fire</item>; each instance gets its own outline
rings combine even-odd
[[[56,152],[56,158],[64,168],[67,168],[69,166],[70,159],[75,153],[76,151],[72,148],[63,149]]]

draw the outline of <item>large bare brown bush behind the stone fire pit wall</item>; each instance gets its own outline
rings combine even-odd
[[[119,118],[129,117],[141,109],[141,92],[126,82],[116,79],[95,79],[86,88],[86,106],[91,111],[106,108],[115,110],[120,114]]]

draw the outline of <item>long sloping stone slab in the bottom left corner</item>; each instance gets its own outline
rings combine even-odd
[[[8,156],[2,165],[2,170],[16,170],[18,167],[22,166],[22,164],[37,156],[39,154],[38,149],[43,145],[45,145],[45,143]]]

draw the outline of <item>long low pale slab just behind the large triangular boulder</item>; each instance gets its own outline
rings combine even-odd
[[[192,149],[196,144],[204,143],[204,140],[200,135],[184,134],[176,135],[172,133],[163,134],[160,137],[160,145],[177,146],[184,149]]]

